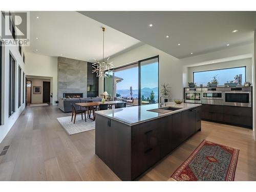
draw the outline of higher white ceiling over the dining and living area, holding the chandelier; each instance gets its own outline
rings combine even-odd
[[[93,62],[102,59],[101,27],[106,28],[105,57],[141,45],[139,40],[75,11],[35,11],[30,12],[30,46],[25,49]]]

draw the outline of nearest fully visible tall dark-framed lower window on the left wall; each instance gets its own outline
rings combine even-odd
[[[15,60],[9,56],[9,117],[15,112]]]

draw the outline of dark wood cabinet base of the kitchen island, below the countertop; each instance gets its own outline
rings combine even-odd
[[[96,114],[95,152],[121,180],[134,180],[196,133],[197,119],[197,108],[135,125]]]

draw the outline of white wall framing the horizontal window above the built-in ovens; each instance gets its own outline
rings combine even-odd
[[[246,81],[252,82],[252,58],[231,60],[231,61],[219,62],[219,63],[211,63],[209,65],[203,65],[203,66],[188,67],[187,81],[188,82],[193,81],[193,72],[216,70],[216,69],[227,69],[227,68],[244,67],[244,66],[246,66],[246,72],[245,72]],[[233,79],[230,79],[230,80],[233,80]]]

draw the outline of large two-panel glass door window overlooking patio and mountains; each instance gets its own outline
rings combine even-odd
[[[158,56],[118,67],[104,78],[104,91],[132,105],[158,103]]]

